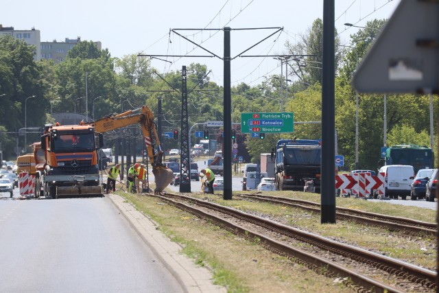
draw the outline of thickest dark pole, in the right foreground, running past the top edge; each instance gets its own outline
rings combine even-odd
[[[334,0],[323,1],[321,219],[335,223]]]

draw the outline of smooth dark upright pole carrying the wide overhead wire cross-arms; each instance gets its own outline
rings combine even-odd
[[[230,91],[230,27],[224,27],[224,200],[232,199],[232,97]]]

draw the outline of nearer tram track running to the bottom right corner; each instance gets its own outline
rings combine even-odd
[[[357,292],[436,290],[436,272],[398,259],[335,242],[205,200],[178,194],[155,197],[257,242],[274,253],[303,263],[320,274],[342,278],[343,283]],[[359,273],[365,271],[368,274]],[[386,285],[388,283],[391,285]]]

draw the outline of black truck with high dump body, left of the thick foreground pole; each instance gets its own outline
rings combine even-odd
[[[281,139],[276,144],[274,183],[276,190],[304,190],[306,181],[312,180],[320,192],[320,161],[322,145],[311,139]]]

